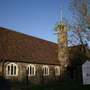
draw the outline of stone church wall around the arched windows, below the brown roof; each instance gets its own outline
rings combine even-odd
[[[4,75],[6,79],[20,81],[20,82],[28,82],[30,84],[47,84],[54,80],[59,80],[60,76],[55,76],[54,67],[55,65],[48,65],[49,66],[49,76],[43,76],[42,66],[44,64],[33,64],[36,67],[36,74],[35,76],[28,76],[26,75],[26,67],[31,63],[20,63],[15,62],[18,65],[18,76],[6,76],[6,65],[10,62],[6,62],[4,64]]]

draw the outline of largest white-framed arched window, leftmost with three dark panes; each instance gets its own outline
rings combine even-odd
[[[18,65],[15,63],[9,63],[6,66],[7,76],[17,76],[18,75]]]

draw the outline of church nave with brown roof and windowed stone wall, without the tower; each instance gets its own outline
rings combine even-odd
[[[0,76],[38,84],[60,77],[57,44],[0,28]]]

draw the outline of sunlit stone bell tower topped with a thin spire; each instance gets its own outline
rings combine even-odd
[[[69,64],[68,59],[68,35],[67,24],[62,20],[56,26],[56,33],[58,35],[58,60],[61,66],[61,73],[63,74]]]

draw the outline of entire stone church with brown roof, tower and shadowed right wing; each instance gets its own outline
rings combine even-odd
[[[0,27],[0,77],[32,84],[61,80],[65,74],[81,80],[81,65],[90,60],[90,50],[67,47],[66,28],[60,29],[57,44]]]

